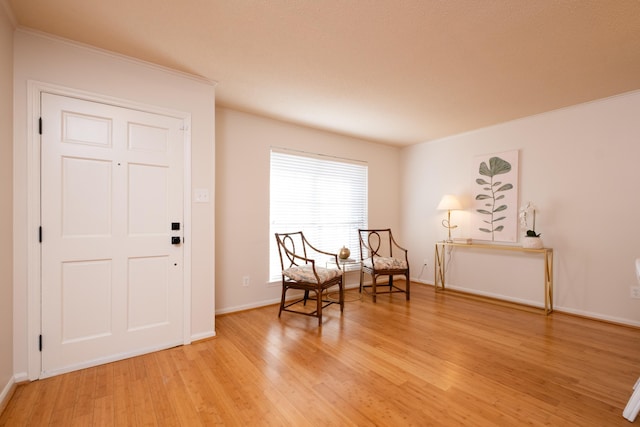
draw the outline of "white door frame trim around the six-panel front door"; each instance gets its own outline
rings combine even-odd
[[[27,82],[27,376],[29,380],[42,377],[40,334],[42,325],[42,254],[39,241],[41,224],[41,153],[39,119],[41,94],[51,93],[85,101],[140,110],[181,119],[184,129],[183,165],[183,345],[191,343],[191,114],[164,107],[142,104],[79,89],[44,83]],[[46,126],[46,123],[45,123]],[[46,232],[46,231],[45,231]],[[46,238],[46,235],[45,235]],[[135,356],[132,353],[130,356]]]

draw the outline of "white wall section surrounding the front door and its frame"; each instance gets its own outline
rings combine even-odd
[[[210,203],[192,204],[191,335],[214,334],[214,85],[183,74],[121,56],[26,31],[14,36],[14,354],[19,378],[33,372],[29,348],[37,336],[27,335],[29,319],[27,264],[27,142],[31,117],[27,110],[27,82],[35,80],[191,114],[191,180],[194,189],[207,189]],[[36,373],[39,374],[39,373]]]

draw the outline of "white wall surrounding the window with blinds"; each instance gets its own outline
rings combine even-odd
[[[270,147],[364,160],[369,166],[369,226],[400,232],[400,149],[216,109],[216,312],[279,301],[268,286]],[[336,191],[340,191],[336,188]],[[339,248],[335,248],[337,251]],[[357,253],[357,248],[350,248]],[[242,286],[242,277],[250,285]],[[348,282],[354,278],[347,278]]]

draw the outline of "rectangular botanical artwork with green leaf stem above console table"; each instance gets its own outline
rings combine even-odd
[[[471,238],[518,240],[518,150],[473,161]]]

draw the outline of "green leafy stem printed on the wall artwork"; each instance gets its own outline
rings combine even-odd
[[[486,162],[480,163],[478,172],[482,176],[488,178],[477,178],[476,184],[482,186],[484,193],[476,195],[476,200],[483,201],[483,207],[476,209],[481,215],[485,215],[485,219],[482,220],[486,226],[482,226],[479,230],[483,233],[491,234],[491,240],[495,239],[495,233],[504,229],[502,221],[506,219],[504,214],[509,206],[503,202],[505,198],[505,191],[513,189],[513,185],[510,183],[502,183],[496,179],[499,175],[509,173],[511,171],[511,163],[507,162],[500,157],[491,157],[489,159],[489,165]]]

